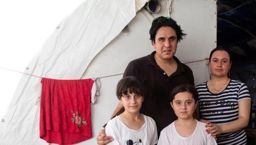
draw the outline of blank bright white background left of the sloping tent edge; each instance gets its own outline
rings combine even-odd
[[[53,29],[83,1],[0,0],[0,67],[24,72]],[[0,69],[0,119],[21,77]]]

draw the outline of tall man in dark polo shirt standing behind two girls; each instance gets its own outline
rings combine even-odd
[[[123,77],[134,76],[144,84],[145,99],[140,113],[154,119],[160,136],[163,128],[177,119],[170,105],[169,93],[180,84],[195,84],[192,70],[174,56],[178,42],[186,36],[176,21],[170,17],[157,17],[149,34],[156,51],[131,61]],[[118,104],[113,115],[121,108],[122,104]],[[98,145],[112,140],[111,136],[105,136],[104,130],[97,136]]]

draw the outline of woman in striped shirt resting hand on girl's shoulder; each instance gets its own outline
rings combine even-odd
[[[207,133],[217,137],[218,145],[246,145],[244,128],[250,116],[250,94],[244,83],[227,77],[231,64],[228,49],[217,47],[210,53],[212,79],[196,87],[198,117],[207,123]]]

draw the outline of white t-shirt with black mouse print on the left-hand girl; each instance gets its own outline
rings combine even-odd
[[[138,131],[128,128],[120,116],[111,119],[105,127],[105,133],[114,140],[108,145],[156,145],[157,125],[151,117],[143,116],[145,123]]]

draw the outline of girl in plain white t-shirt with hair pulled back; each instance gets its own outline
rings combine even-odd
[[[198,92],[194,86],[175,87],[170,99],[178,119],[161,131],[157,145],[217,145],[214,137],[205,131],[207,124],[193,119],[198,104]]]

